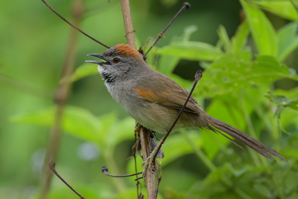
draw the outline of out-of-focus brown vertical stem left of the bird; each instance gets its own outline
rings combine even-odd
[[[82,0],[76,0],[73,7],[73,16],[74,24],[78,26],[80,18],[83,15],[83,2]],[[61,120],[63,117],[64,106],[69,96],[70,82],[69,77],[74,67],[74,60],[76,55],[76,44],[77,44],[78,32],[75,29],[71,29],[69,45],[67,48],[65,63],[63,65],[62,73],[60,80],[61,83],[58,85],[58,88],[55,93],[55,102],[57,103],[56,112],[55,112],[55,121],[54,126],[50,132],[50,142],[47,149],[45,162],[44,162],[44,176],[42,183],[42,190],[40,198],[46,198],[46,195],[49,191],[49,186],[52,181],[52,172],[48,169],[48,164],[51,161],[55,161],[60,142],[61,134]]]

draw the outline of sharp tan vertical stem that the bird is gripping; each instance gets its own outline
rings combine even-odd
[[[122,7],[123,21],[124,21],[124,27],[125,27],[125,37],[127,39],[127,43],[136,49],[136,40],[134,38],[134,28],[131,21],[129,1],[121,0],[121,7]],[[139,133],[140,135],[143,160],[145,161],[150,155],[150,153],[152,152],[149,131],[145,127],[141,126],[140,128],[138,128],[138,131],[136,133]],[[155,174],[150,172],[149,170],[147,170],[146,172],[147,172],[146,174],[147,197],[148,199],[154,199],[155,198],[154,192],[156,188]]]

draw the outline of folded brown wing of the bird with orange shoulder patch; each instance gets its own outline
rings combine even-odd
[[[148,81],[151,83],[150,88],[148,88],[148,86],[135,87],[139,96],[152,103],[157,103],[169,108],[181,109],[189,92],[169,77],[162,74],[160,75],[158,80]],[[198,105],[195,98],[191,96],[184,110],[199,114],[199,107],[200,105]]]

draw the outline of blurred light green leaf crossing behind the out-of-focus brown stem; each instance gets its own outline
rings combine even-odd
[[[17,123],[34,124],[44,127],[53,127],[56,106],[44,108],[24,115],[13,116],[11,120]],[[96,116],[83,108],[66,106],[63,111],[61,128],[63,131],[87,141],[95,141],[101,122]]]

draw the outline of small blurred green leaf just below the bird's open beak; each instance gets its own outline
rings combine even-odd
[[[84,64],[80,65],[79,67],[77,67],[75,72],[72,74],[70,80],[72,82],[75,82],[75,81],[80,80],[84,77],[94,75],[94,74],[98,74],[97,66],[95,64],[91,64],[91,63],[84,63]]]

